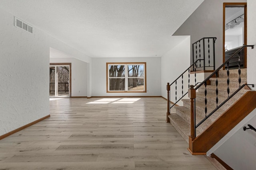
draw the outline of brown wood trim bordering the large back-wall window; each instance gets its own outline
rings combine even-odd
[[[108,64],[144,64],[144,87],[143,91],[109,91],[108,90]],[[146,62],[125,62],[125,63],[106,63],[106,92],[107,93],[146,93],[147,92],[147,66]]]

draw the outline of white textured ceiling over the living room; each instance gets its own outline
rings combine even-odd
[[[161,57],[204,0],[0,0],[0,8],[89,57]]]

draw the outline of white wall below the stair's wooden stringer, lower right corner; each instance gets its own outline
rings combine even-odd
[[[248,124],[256,127],[256,109],[250,114],[254,115],[252,119],[240,126],[234,135],[214,151],[214,154],[234,170],[254,170],[256,167],[256,132],[243,130]]]

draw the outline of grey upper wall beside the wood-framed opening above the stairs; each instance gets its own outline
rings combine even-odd
[[[202,37],[217,37],[215,43],[216,68],[223,63],[223,2],[246,2],[246,0],[204,0],[173,34],[190,35],[191,44]]]

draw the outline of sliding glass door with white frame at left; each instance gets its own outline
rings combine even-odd
[[[50,97],[70,96],[70,66],[50,66]]]

